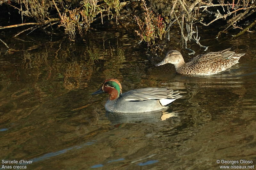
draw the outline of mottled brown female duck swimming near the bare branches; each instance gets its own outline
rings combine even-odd
[[[243,54],[235,54],[229,51],[230,48],[223,51],[211,52],[197,55],[190,62],[185,63],[181,53],[177,50],[169,51],[164,60],[156,66],[166,63],[174,64],[175,70],[182,75],[211,75],[224,71],[238,63]]]

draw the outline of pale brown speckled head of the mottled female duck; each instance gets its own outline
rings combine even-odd
[[[185,64],[181,53],[177,50],[168,51],[168,53],[165,55],[164,60],[162,62],[156,64],[156,66],[164,65],[164,64],[167,64],[167,63],[174,64],[175,67]]]

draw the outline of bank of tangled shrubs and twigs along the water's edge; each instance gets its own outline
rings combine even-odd
[[[117,26],[156,48],[159,41],[170,41],[170,33],[178,28],[182,47],[194,54],[187,47],[188,41],[208,48],[200,44],[197,27],[214,25],[218,20],[222,22],[216,37],[223,33],[237,37],[254,28],[256,5],[252,0],[0,0],[0,11],[10,15],[19,12],[19,24],[17,19],[15,24],[9,19],[6,25],[1,21],[8,18],[0,18],[0,29],[23,28],[15,37],[39,29],[47,34],[61,34],[63,30],[74,41],[83,39],[89,29]]]

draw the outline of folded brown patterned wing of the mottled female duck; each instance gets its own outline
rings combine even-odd
[[[200,64],[209,64],[216,62],[217,60],[227,59],[230,56],[234,55],[235,52],[229,51],[231,48],[218,51],[218,52],[210,52],[206,54],[197,55],[190,62],[191,63],[200,63]]]

